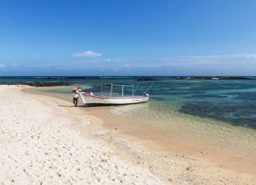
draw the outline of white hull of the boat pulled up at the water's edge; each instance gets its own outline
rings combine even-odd
[[[81,94],[85,104],[96,105],[126,105],[148,102],[149,97],[100,97],[95,95]]]

